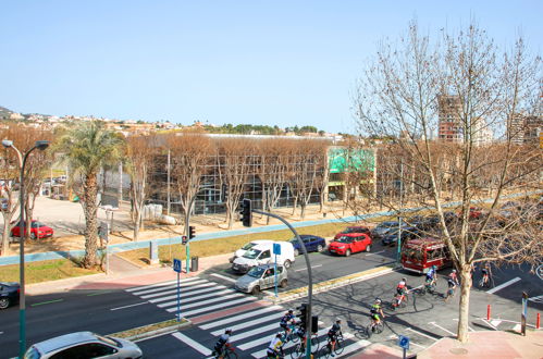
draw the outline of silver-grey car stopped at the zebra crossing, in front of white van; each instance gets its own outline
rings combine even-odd
[[[288,271],[277,265],[277,286],[286,288],[288,284]],[[275,286],[275,264],[262,264],[254,267],[247,274],[240,276],[234,287],[244,293],[259,294],[262,289]]]

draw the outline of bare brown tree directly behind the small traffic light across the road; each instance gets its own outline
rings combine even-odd
[[[172,158],[172,177],[180,196],[181,207],[186,214],[190,211],[189,206],[200,190],[202,175],[212,159],[213,145],[209,137],[198,133],[170,135],[166,144]]]

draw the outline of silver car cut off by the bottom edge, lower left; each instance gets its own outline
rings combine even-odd
[[[141,357],[143,351],[136,344],[92,332],[75,332],[36,343],[24,356],[25,359]]]

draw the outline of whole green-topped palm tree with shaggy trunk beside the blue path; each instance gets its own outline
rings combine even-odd
[[[85,258],[82,265],[97,263],[98,174],[102,166],[118,163],[123,139],[104,127],[102,121],[76,124],[61,135],[58,151],[72,173],[71,183],[85,213]]]

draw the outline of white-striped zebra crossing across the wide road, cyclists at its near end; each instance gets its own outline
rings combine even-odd
[[[177,310],[177,281],[125,290],[168,312]],[[281,306],[259,301],[224,285],[200,277],[184,278],[181,281],[181,315],[193,321],[194,330],[176,332],[171,337],[193,349],[195,357],[196,352],[208,357],[211,350],[199,343],[210,339],[214,343],[229,327],[233,330],[230,341],[243,357],[266,358],[268,345],[281,330],[279,322],[284,313],[285,309]],[[319,347],[326,345],[331,325],[319,322]],[[338,357],[351,355],[370,344],[350,333],[344,332],[344,338],[345,349]],[[292,342],[284,346],[286,352],[294,348]]]

